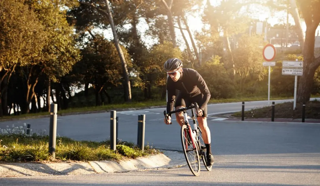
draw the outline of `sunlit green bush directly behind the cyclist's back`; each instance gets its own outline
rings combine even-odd
[[[211,98],[225,99],[235,95],[235,86],[229,78],[223,64],[220,63],[220,57],[214,56],[210,61],[205,62],[197,71],[204,78]]]

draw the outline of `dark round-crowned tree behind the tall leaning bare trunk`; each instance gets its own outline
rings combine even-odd
[[[124,47],[125,60],[130,62],[129,55]],[[82,83],[93,85],[96,96],[96,105],[101,105],[99,95],[103,98],[107,87],[115,87],[124,82],[121,61],[115,45],[102,35],[96,34],[90,39],[81,52],[83,58],[74,66],[73,76],[82,79]],[[132,63],[128,63],[131,67]],[[107,95],[108,96],[108,95]],[[102,99],[101,99],[102,100]],[[102,100],[103,101],[103,100]]]

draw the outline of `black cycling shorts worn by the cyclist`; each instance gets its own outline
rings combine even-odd
[[[196,102],[199,107],[201,106],[202,102],[203,102],[203,94],[199,94],[196,95],[195,97],[188,97],[188,95],[182,95],[182,94],[178,94],[178,96],[176,97],[176,101],[175,101],[175,107],[179,107],[179,106],[183,106],[183,107],[188,107],[191,105],[191,103]],[[207,117],[207,105],[205,105],[204,110],[203,110],[203,114],[201,117]]]

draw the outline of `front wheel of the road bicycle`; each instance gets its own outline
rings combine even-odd
[[[195,145],[196,149],[193,149],[192,142],[190,143],[188,138],[191,139],[187,125],[182,125],[182,127],[181,127],[181,143],[182,143],[184,157],[187,160],[187,164],[188,164],[192,174],[195,176],[198,176],[200,174],[200,157],[199,157],[199,153],[198,153],[198,148],[197,148],[197,145]],[[190,152],[192,152],[193,154],[191,154]],[[191,159],[192,159],[191,155],[194,157],[194,160],[192,160],[193,162],[191,162]]]

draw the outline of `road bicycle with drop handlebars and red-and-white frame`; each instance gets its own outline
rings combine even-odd
[[[212,170],[212,165],[207,166],[206,161],[206,147],[202,138],[202,131],[199,127],[199,124],[196,122],[195,112],[198,110],[198,104],[192,103],[189,107],[182,107],[178,110],[166,113],[164,111],[164,117],[168,121],[168,115],[174,114],[177,112],[182,112],[184,117],[184,123],[181,126],[181,143],[183,148],[184,156],[187,160],[187,164],[193,175],[198,176],[200,174],[200,159],[204,163],[204,167],[208,170]],[[187,110],[191,109],[191,117],[188,115]],[[193,121],[193,129],[189,124],[188,119]],[[170,123],[171,124],[171,123]]]

